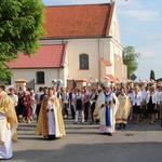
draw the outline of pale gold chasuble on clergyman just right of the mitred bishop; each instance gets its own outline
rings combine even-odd
[[[119,95],[118,96],[119,99],[119,108],[118,111],[116,113],[116,123],[123,123],[126,124],[127,123],[127,118],[130,114],[130,109],[131,109],[131,102],[129,96],[124,95]]]

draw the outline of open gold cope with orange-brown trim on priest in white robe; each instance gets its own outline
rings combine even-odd
[[[49,125],[48,125],[48,113],[46,113],[46,106],[49,102],[49,97],[45,97],[42,100],[41,109],[38,118],[38,123],[36,127],[36,134],[42,135],[44,137],[48,137],[49,135]],[[62,114],[62,103],[60,99],[57,97],[53,97],[52,103],[54,105],[54,124],[55,124],[55,137],[62,137],[66,135],[65,133],[65,126],[63,121],[63,114]]]

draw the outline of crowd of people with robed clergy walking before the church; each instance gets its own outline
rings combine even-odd
[[[4,86],[1,85],[0,90],[0,120],[5,119],[8,123],[9,117],[1,104]],[[15,117],[12,111],[15,123],[30,123],[36,120],[36,134],[48,137],[50,140],[66,135],[64,119],[69,118],[73,119],[73,124],[99,123],[100,133],[109,136],[113,135],[116,127],[126,129],[127,120],[134,120],[134,124],[139,124],[144,118],[149,118],[150,124],[153,125],[158,118],[162,119],[162,87],[157,85],[112,86],[107,80],[91,91],[87,86],[76,86],[70,91],[67,87],[44,86],[39,87],[38,92],[31,89],[23,91],[22,87],[15,92],[13,87],[10,87],[9,98],[16,112]],[[0,126],[2,127],[1,123]],[[11,137],[15,134],[15,127]],[[5,134],[6,132],[0,133],[0,137],[4,138]],[[0,159],[8,159],[11,154],[1,156],[3,147],[9,147],[4,146],[3,138],[0,138]],[[14,140],[16,140],[15,136]]]

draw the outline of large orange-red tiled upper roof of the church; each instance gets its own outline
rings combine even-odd
[[[109,36],[114,3],[45,6],[48,38]]]

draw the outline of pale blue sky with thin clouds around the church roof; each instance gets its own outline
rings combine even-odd
[[[109,3],[110,0],[42,0],[45,5]],[[162,0],[116,0],[122,46],[134,46],[140,56],[137,79],[150,70],[162,78]]]

